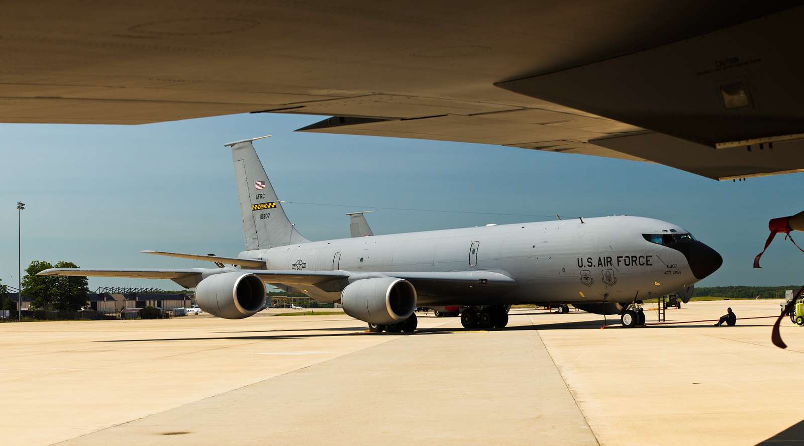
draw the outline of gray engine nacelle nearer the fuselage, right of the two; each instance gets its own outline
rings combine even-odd
[[[341,292],[343,311],[371,324],[404,321],[416,309],[416,288],[408,280],[373,277],[348,284]]]

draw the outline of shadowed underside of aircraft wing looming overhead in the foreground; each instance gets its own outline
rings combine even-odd
[[[804,150],[782,147],[804,138],[795,0],[197,0],[190,15],[154,0],[38,4],[0,15],[2,122],[298,113],[327,117],[305,132],[582,153],[708,178],[804,170]],[[657,149],[630,137],[646,130],[671,139]]]

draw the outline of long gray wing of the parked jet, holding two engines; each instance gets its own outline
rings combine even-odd
[[[50,268],[38,276],[133,277],[138,279],[170,279],[184,287],[195,287],[204,277],[222,272],[247,272],[267,284],[282,284],[293,288],[314,287],[326,293],[337,293],[355,280],[371,277],[398,277],[408,280],[422,295],[479,294],[498,292],[515,286],[515,280],[500,272],[349,272],[296,271],[236,268]],[[302,288],[303,289],[303,288]]]

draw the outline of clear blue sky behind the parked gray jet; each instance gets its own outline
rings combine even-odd
[[[724,257],[702,286],[796,284],[804,254],[777,238],[753,269],[768,219],[802,210],[801,174],[716,182],[670,167],[497,145],[293,133],[321,117],[242,114],[150,125],[0,124],[0,279],[69,260],[85,268],[207,266],[142,249],[219,256],[243,250],[224,143],[273,133],[257,153],[285,211],[308,239],[349,235],[347,211],[379,210],[375,234],[517,223],[548,215],[642,215],[679,224]],[[544,216],[542,216],[544,215]],[[804,235],[799,236],[804,242]],[[98,286],[179,289],[170,280],[90,279]]]

